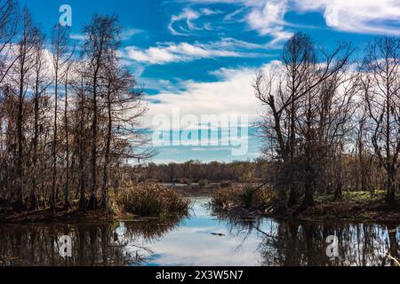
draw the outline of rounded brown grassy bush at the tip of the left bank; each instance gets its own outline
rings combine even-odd
[[[125,190],[116,199],[125,213],[143,217],[187,215],[189,201],[163,185],[145,184]]]

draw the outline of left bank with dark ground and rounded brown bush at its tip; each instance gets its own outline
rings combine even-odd
[[[68,211],[62,208],[53,213],[50,208],[15,211],[11,204],[0,202],[0,223],[79,223],[112,222],[137,217],[185,217],[189,201],[182,194],[163,185],[143,184],[126,188],[109,196],[108,210],[79,210],[79,201],[72,201]]]

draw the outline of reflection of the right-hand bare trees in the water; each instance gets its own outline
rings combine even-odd
[[[230,233],[258,233],[261,264],[267,266],[396,265],[400,230],[396,225],[300,222],[222,216]],[[329,259],[326,239],[339,239],[340,257]],[[388,257],[389,256],[389,257]]]

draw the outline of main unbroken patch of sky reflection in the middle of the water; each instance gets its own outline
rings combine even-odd
[[[246,237],[244,233],[229,233],[227,223],[208,214],[204,206],[206,201],[196,199],[192,217],[182,221],[162,240],[151,243],[140,240],[141,246],[154,252],[148,256],[146,265],[247,266],[259,263],[257,234]]]

